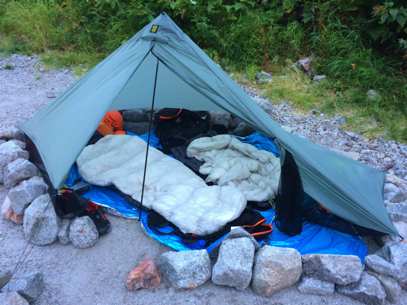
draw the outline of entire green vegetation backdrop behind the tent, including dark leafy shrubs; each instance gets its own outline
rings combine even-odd
[[[313,73],[328,76],[321,87],[336,97],[321,107],[347,109],[349,117],[359,113],[377,122],[376,133],[386,128],[390,138],[407,141],[403,5],[402,0],[0,0],[0,45],[19,53],[51,50],[45,63],[92,68],[163,11],[223,68],[250,71],[250,81],[260,69],[273,72],[314,55]],[[368,89],[379,91],[380,98],[369,100]],[[276,92],[271,95],[278,98]]]

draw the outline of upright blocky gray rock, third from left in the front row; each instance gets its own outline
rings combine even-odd
[[[219,257],[212,269],[212,282],[243,290],[250,284],[254,246],[249,238],[227,239],[219,248]]]

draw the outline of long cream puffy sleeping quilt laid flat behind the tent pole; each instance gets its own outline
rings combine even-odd
[[[141,200],[147,143],[139,137],[108,135],[86,146],[76,163],[91,184],[109,186]],[[207,186],[181,162],[150,147],[143,205],[154,209],[184,233],[206,235],[236,219],[246,206],[233,186]]]

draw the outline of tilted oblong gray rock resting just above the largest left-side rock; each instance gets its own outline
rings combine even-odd
[[[8,196],[13,207],[13,211],[17,215],[23,215],[25,209],[37,197],[44,195],[48,190],[41,177],[32,177],[22,181],[17,187],[10,190]]]

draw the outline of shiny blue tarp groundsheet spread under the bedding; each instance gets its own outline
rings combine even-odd
[[[134,135],[132,133],[128,134]],[[147,142],[148,134],[141,135],[139,137]],[[239,140],[244,143],[252,144],[260,150],[271,151],[277,157],[280,155],[277,147],[274,145],[273,140],[258,132],[255,132],[246,138],[239,138]],[[161,148],[161,146],[157,146],[157,143],[158,138],[152,131],[150,136],[150,145],[155,148]],[[173,157],[172,155],[169,156]],[[80,177],[78,168],[76,164],[74,164],[65,184],[68,187],[72,186],[73,182],[78,177]],[[82,179],[82,182],[86,181]],[[112,214],[117,214],[128,218],[137,218],[139,215],[138,208],[126,201],[122,196],[119,195],[118,192],[109,188],[91,185],[91,189],[86,192],[83,197],[90,198],[90,200],[102,204],[105,211],[111,212]],[[297,249],[301,255],[314,253],[356,255],[360,257],[362,263],[367,254],[367,247],[359,236],[340,233],[338,231],[309,222],[303,223],[303,230],[301,234],[296,236],[288,236],[278,231],[276,228],[273,221],[275,215],[273,209],[270,208],[264,212],[260,211],[260,213],[266,218],[267,223],[272,224],[274,227],[274,230],[270,235],[270,241],[268,242],[270,246],[294,248]],[[149,212],[142,211],[141,215],[141,224],[146,231],[154,239],[177,251],[207,249],[208,252],[210,252],[218,243],[222,241],[224,237],[227,236],[223,236],[207,248],[205,248],[205,241],[203,240],[197,241],[194,245],[185,245],[182,243],[181,238],[177,235],[160,235],[153,232],[147,225],[148,214]],[[165,227],[160,230],[163,232],[170,232],[172,228]],[[266,242],[266,240],[260,240],[260,245],[263,242]]]

